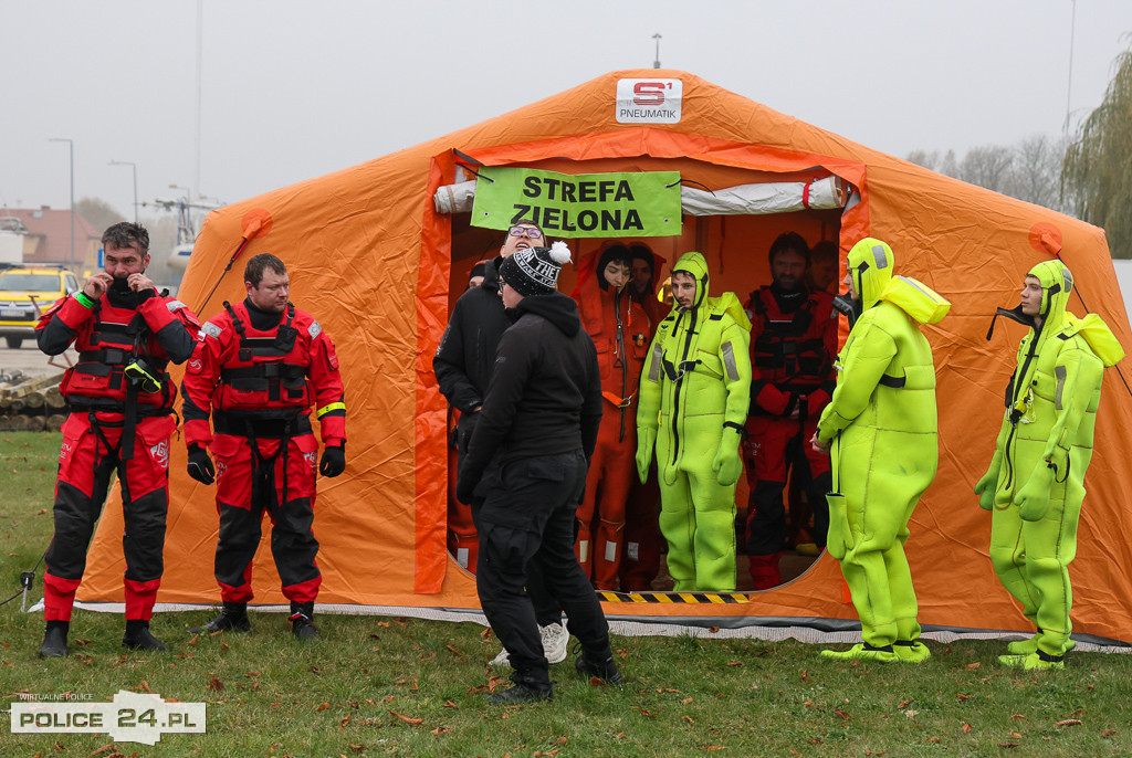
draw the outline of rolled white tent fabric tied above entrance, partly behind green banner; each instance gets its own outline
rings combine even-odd
[[[432,203],[437,213],[468,213],[475,200],[475,181],[445,184]],[[739,184],[715,191],[680,188],[680,206],[689,216],[744,216],[791,213],[806,208],[827,209],[844,205],[841,179],[826,176],[813,182]]]

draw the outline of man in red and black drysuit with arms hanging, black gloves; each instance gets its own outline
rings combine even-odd
[[[323,583],[311,528],[316,479],[337,476],[346,465],[338,359],[318,321],[288,300],[291,282],[282,260],[269,253],[251,258],[243,286],[243,302],[225,302],[200,328],[182,385],[189,476],[203,484],[216,481],[215,575],[224,603],[220,615],[190,634],[250,629],[251,560],[266,511],[275,568],[291,601],[291,631],[314,639]],[[317,473],[311,405],[325,446]]]

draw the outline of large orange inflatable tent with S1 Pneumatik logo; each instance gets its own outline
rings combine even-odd
[[[811,244],[835,240],[842,256],[872,235],[892,246],[900,273],[953,303],[942,324],[926,329],[938,373],[941,455],[908,543],[920,621],[929,629],[1028,630],[992,570],[990,517],[971,494],[990,457],[1023,334],[1018,325],[1000,325],[988,343],[986,331],[996,307],[1018,303],[1024,272],[1060,253],[1088,310],[1132,345],[1103,231],[941,176],[675,70],[615,71],[207,217],[179,293],[200,308],[220,281],[201,319],[218,312],[222,301],[242,299],[243,262],[272,252],[290,269],[292,300],[315,313],[337,345],[349,408],[348,468],[319,483],[320,603],[405,614],[478,608],[474,577],[446,551],[446,404],[431,360],[469,267],[499,244],[498,232],[471,226],[468,213],[439,213],[434,201],[437,190],[470,179],[480,165],[567,174],[677,171],[686,186],[707,190],[830,178],[847,188],[843,208],[685,215],[679,235],[648,242],[669,262],[686,250],[703,251],[712,294],[731,290],[745,299],[767,283],[766,250],[782,231],[799,231]],[[598,242],[572,241],[575,260]],[[569,292],[573,273],[564,279],[559,286]],[[1079,298],[1073,309],[1087,310]],[[1132,449],[1132,397],[1116,371],[1106,372],[1097,440],[1070,569],[1074,630],[1127,643],[1132,471],[1123,462]],[[187,476],[179,442],[174,437],[158,601],[218,603],[213,489]],[[112,503],[80,600],[121,601],[120,537],[120,507]],[[266,540],[255,569],[257,601],[282,603]],[[851,629],[857,618],[827,555],[794,582],[749,596],[625,596],[604,608],[611,618],[722,627]]]

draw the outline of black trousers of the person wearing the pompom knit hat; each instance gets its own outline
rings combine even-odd
[[[549,684],[549,664],[525,592],[530,569],[567,615],[588,658],[610,655],[609,625],[574,555],[574,511],[585,491],[581,450],[537,456],[496,470],[477,511],[480,534],[475,588],[488,623],[507,648],[515,681]]]

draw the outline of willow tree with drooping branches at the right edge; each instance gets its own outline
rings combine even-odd
[[[1105,230],[1114,258],[1132,258],[1132,50],[1115,69],[1065,152],[1062,196],[1079,218]]]

